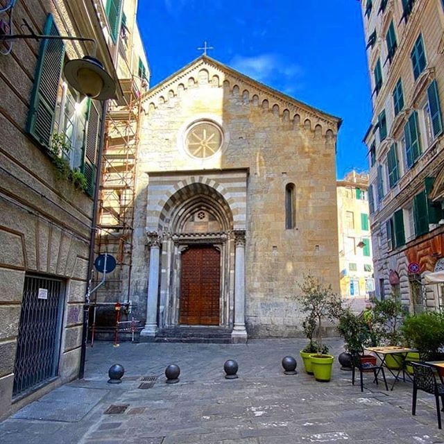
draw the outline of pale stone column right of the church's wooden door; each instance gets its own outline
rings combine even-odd
[[[234,343],[245,343],[245,231],[234,231],[236,254],[234,260],[234,328],[231,334]]]

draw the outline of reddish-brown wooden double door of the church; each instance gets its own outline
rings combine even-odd
[[[212,246],[182,253],[179,323],[219,325],[221,252]]]

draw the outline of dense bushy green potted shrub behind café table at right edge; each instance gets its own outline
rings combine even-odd
[[[424,313],[408,316],[401,327],[404,341],[409,347],[416,348],[418,352],[407,354],[407,362],[441,361],[444,353],[444,314],[438,311],[425,311]],[[413,373],[413,368],[407,364],[407,372]],[[443,370],[440,374],[444,376]]]

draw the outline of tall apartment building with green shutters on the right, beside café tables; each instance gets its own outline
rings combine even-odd
[[[362,0],[373,118],[368,146],[377,295],[411,313],[441,305],[444,266],[444,4]]]

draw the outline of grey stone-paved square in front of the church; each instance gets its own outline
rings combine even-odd
[[[332,354],[341,341],[328,341]],[[305,374],[301,339],[253,340],[248,345],[96,343],[87,350],[86,378],[66,384],[0,424],[0,443],[281,444],[444,443],[434,398],[419,393],[411,416],[411,384],[393,391],[352,386],[335,361],[332,380]],[[280,361],[298,360],[298,375]],[[223,378],[226,359],[239,363],[239,379]],[[108,368],[126,368],[121,384],[107,384]],[[181,368],[178,384],[164,383],[168,364]],[[142,377],[156,376],[151,388]],[[389,378],[391,381],[392,379]],[[151,384],[148,384],[148,386]],[[105,414],[111,405],[123,413]],[[42,418],[42,419],[38,419]]]

